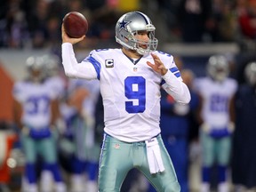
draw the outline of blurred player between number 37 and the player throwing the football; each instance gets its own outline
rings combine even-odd
[[[94,129],[99,95],[98,81],[70,79],[66,102],[60,104],[60,113],[66,123],[66,131],[60,136],[60,158],[65,159],[63,165],[68,170],[72,192],[97,191],[102,138],[95,142]],[[103,127],[98,129],[103,134]]]

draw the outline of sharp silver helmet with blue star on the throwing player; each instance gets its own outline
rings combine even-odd
[[[145,55],[156,51],[158,40],[155,37],[155,29],[146,14],[127,12],[116,22],[116,42],[126,49],[135,50],[140,55]],[[149,40],[147,42],[136,39],[135,35],[140,31],[148,32]],[[142,48],[141,44],[147,45],[147,48]]]

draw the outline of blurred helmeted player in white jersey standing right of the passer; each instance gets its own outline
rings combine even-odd
[[[202,145],[201,192],[210,191],[212,169],[218,167],[219,192],[228,192],[228,165],[231,135],[234,131],[236,80],[228,77],[229,66],[224,56],[213,55],[207,63],[208,76],[196,79],[200,95],[200,142]],[[215,161],[216,160],[216,161]]]

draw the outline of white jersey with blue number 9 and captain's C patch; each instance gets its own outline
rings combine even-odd
[[[164,52],[154,53],[181,81],[173,57]],[[108,49],[92,51],[82,64],[88,61],[100,79],[104,131],[127,142],[156,136],[160,132],[160,87],[164,81],[147,65],[147,61],[154,63],[152,56],[132,60],[120,49]]]

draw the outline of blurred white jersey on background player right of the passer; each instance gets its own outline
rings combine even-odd
[[[237,90],[236,80],[227,78],[220,83],[207,76],[196,79],[195,84],[204,100],[201,112],[204,122],[212,129],[227,128],[230,121],[228,106]]]

